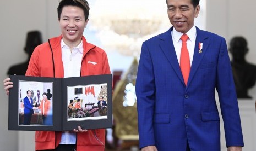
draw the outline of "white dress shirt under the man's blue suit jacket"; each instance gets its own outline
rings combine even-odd
[[[177,59],[178,59],[178,62],[180,62],[181,47],[182,47],[181,36],[183,35],[183,33],[178,32],[175,30],[175,28],[173,28],[171,34],[172,34],[172,42],[175,48]],[[193,56],[194,56],[195,40],[197,38],[197,29],[195,28],[195,25],[186,34],[188,36],[187,48],[189,53],[190,66],[191,66],[193,61]]]

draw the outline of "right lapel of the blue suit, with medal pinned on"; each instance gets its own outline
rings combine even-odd
[[[199,53],[199,43],[203,43],[203,50],[201,51],[201,53]],[[203,33],[203,31],[197,28],[197,39],[195,40],[194,56],[193,56],[192,66],[189,73],[187,88],[189,84],[192,82],[192,79],[195,73],[197,72],[198,66],[200,65],[200,62],[203,59],[204,54],[206,53],[206,51],[208,51],[208,46],[209,46],[208,36],[206,36]]]

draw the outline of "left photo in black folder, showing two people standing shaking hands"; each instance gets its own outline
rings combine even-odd
[[[19,126],[53,126],[54,102],[47,99],[48,89],[53,89],[53,82],[19,80]]]

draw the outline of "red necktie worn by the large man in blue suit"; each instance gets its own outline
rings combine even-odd
[[[181,67],[181,72],[182,72],[183,79],[186,86],[188,83],[188,76],[190,72],[190,60],[189,60],[189,53],[187,48],[187,39],[188,39],[187,34],[183,34],[181,36],[182,47],[181,47],[180,67]]]

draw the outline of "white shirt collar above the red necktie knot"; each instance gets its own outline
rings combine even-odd
[[[173,32],[174,42],[178,43],[183,33],[176,31],[175,28],[173,28],[172,32]],[[189,37],[189,40],[191,40],[192,42],[195,42],[195,38],[197,37],[197,29],[195,28],[195,25],[186,34]]]

